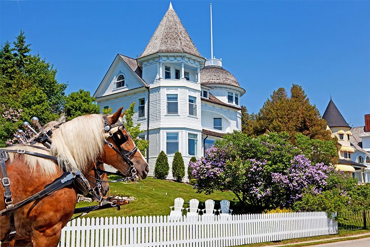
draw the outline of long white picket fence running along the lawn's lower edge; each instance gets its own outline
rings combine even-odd
[[[337,233],[325,212],[79,218],[63,228],[59,246],[236,246]]]

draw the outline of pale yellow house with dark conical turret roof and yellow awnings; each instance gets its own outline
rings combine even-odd
[[[331,131],[331,136],[338,138],[339,148],[339,162],[336,164],[336,169],[344,172],[349,172],[353,177],[357,174],[360,179],[359,182],[363,182],[363,170],[366,168],[363,164],[358,164],[351,160],[351,154],[355,152],[353,146],[351,146],[350,136],[352,135],[351,127],[346,122],[337,106],[331,100],[326,107],[322,118],[327,122],[327,129]],[[356,176],[357,177],[357,176]]]

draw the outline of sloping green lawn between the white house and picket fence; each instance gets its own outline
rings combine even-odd
[[[115,179],[113,176],[110,179]],[[169,215],[170,206],[176,197],[182,197],[184,208],[189,207],[189,200],[196,198],[199,200],[200,209],[204,209],[204,202],[208,199],[215,201],[215,209],[219,209],[219,201],[234,200],[232,192],[217,191],[210,195],[196,193],[192,186],[174,181],[146,178],[138,183],[110,183],[109,195],[128,195],[134,196],[135,201],[121,207],[121,210],[105,209],[87,214],[85,217],[105,217],[105,216],[146,216],[146,215]],[[203,203],[203,204],[202,204]],[[77,207],[96,205],[96,203],[81,202]],[[231,206],[233,209],[233,207]]]

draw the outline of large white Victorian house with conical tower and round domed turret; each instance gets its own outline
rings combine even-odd
[[[142,54],[118,54],[94,93],[101,108],[127,109],[149,139],[149,175],[163,150],[175,151],[187,170],[191,157],[226,133],[241,130],[240,97],[245,90],[219,59],[203,58],[170,4]],[[187,173],[186,173],[187,174]]]

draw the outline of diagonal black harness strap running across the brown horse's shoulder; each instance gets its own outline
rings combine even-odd
[[[73,178],[75,178],[75,176],[76,176],[75,173],[64,172],[60,177],[55,179],[52,183],[46,185],[45,188],[41,190],[40,192],[28,197],[27,199],[19,203],[16,203],[15,205],[13,205],[12,208],[6,208],[0,211],[0,216],[3,216],[4,214],[14,213],[15,210],[17,210],[18,208],[24,205],[34,202],[38,199],[41,199],[42,197],[46,195],[50,195],[54,193],[56,190],[62,189],[70,185],[73,182]]]

